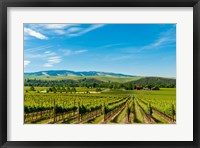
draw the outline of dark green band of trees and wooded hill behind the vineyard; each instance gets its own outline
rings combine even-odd
[[[24,86],[34,87],[51,87],[54,91],[55,88],[58,91],[68,89],[70,87],[87,87],[87,88],[110,88],[110,89],[121,89],[132,90],[136,86],[142,86],[146,88],[159,87],[159,88],[175,88],[176,80],[165,79],[165,78],[142,78],[132,82],[118,83],[118,82],[104,82],[93,78],[84,78],[80,80],[38,80],[38,79],[25,79]],[[74,90],[73,90],[74,91]]]

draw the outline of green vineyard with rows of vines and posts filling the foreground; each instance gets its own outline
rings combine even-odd
[[[25,91],[24,123],[175,124],[176,89],[102,89],[98,93]]]

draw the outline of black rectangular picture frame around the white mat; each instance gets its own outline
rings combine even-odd
[[[193,7],[193,141],[7,141],[8,7]],[[200,2],[199,0],[1,0],[0,146],[21,147],[200,147]],[[184,93],[184,92],[183,92]],[[19,133],[20,134],[20,133]]]

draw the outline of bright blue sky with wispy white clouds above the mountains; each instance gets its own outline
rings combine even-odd
[[[176,77],[174,24],[24,24],[24,71]]]

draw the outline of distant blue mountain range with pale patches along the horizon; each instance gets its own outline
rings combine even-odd
[[[48,70],[39,72],[24,73],[25,76],[115,76],[115,77],[137,77],[133,75],[126,75],[112,72],[98,72],[98,71],[70,71],[70,70]]]

